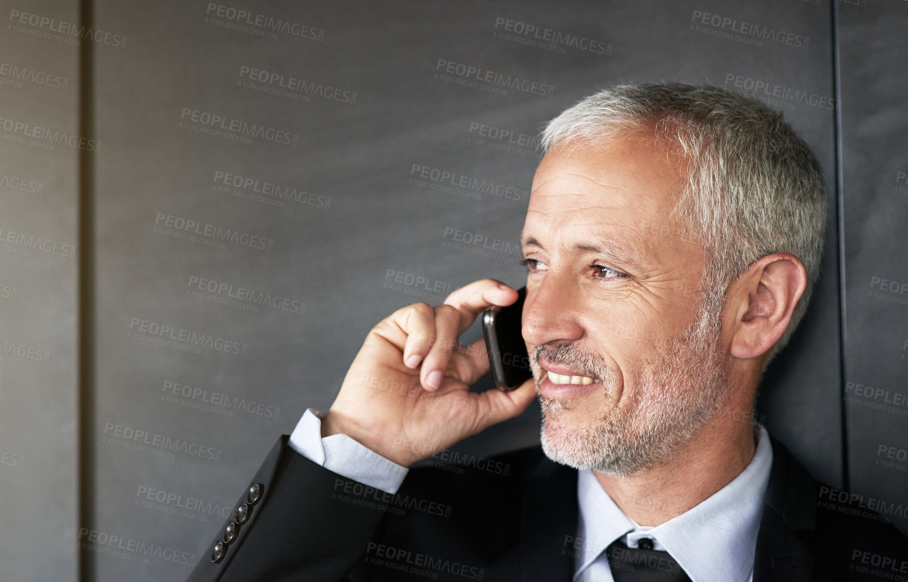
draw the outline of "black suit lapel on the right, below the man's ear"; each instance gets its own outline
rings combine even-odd
[[[773,467],[756,537],[754,582],[804,582],[814,577],[816,483],[785,447],[770,437]]]

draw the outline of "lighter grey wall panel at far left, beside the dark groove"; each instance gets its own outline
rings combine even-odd
[[[79,53],[11,11],[75,22],[73,2],[4,3],[0,51],[0,577],[71,580]],[[26,18],[27,21],[27,18]],[[44,33],[37,30],[34,32]],[[48,36],[53,36],[48,34]]]

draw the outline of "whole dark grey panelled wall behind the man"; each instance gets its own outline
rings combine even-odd
[[[79,561],[85,580],[188,575],[275,438],[307,406],[330,406],[371,326],[480,277],[520,284],[518,255],[452,248],[446,233],[516,244],[527,204],[512,198],[528,192],[538,163],[524,142],[597,87],[627,81],[757,95],[814,147],[830,208],[841,191],[844,213],[830,213],[814,303],[765,375],[759,415],[815,477],[905,501],[908,474],[876,461],[891,460],[880,447],[908,448],[908,406],[875,409],[872,396],[845,386],[908,394],[908,286],[873,295],[883,279],[908,283],[899,254],[908,183],[897,178],[908,173],[905,84],[895,75],[908,5],[840,2],[834,27],[829,0],[93,4],[94,30],[110,33],[83,54],[100,151],[82,152],[80,174],[78,148],[0,141],[0,174],[44,184],[38,196],[0,183],[0,227],[74,245],[76,186],[94,178],[83,203],[94,216],[82,257],[90,321],[76,325],[73,257],[0,253],[2,339],[51,353],[46,364],[7,354],[0,362],[0,452],[25,457],[23,467],[0,465],[0,512],[15,523],[0,528],[0,563],[11,579],[74,579]],[[7,17],[78,19],[64,0],[5,8]],[[301,34],[237,23],[234,9]],[[727,20],[708,24],[708,15]],[[593,50],[540,46],[506,21],[587,39]],[[731,32],[741,22],[792,35],[788,44],[742,37]],[[0,31],[11,49],[3,61],[70,83],[0,85],[3,116],[75,132],[80,47],[65,34],[42,37],[51,25],[20,26]],[[479,86],[442,61],[526,80],[529,90]],[[260,75],[253,69],[264,81],[250,78]],[[212,128],[214,116],[223,121]],[[504,186],[508,196],[439,190],[423,168]],[[18,289],[15,299],[4,286]],[[268,296],[270,304],[256,300]],[[90,364],[81,388],[79,349]],[[490,454],[536,443],[538,415],[532,406],[459,447]],[[140,441],[184,441],[186,452],[127,447],[137,431],[148,435]],[[177,507],[187,504],[196,508]],[[117,549],[126,542],[110,544],[113,536],[162,551]],[[47,557],[39,539],[62,549]]]

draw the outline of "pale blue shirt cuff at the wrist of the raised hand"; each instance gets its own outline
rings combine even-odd
[[[290,447],[313,463],[375,487],[391,495],[397,493],[410,469],[381,457],[369,447],[347,435],[321,437],[321,419],[325,413],[307,408],[290,436]]]

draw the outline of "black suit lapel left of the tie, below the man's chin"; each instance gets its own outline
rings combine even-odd
[[[520,517],[520,580],[569,582],[574,574],[570,542],[577,534],[577,471],[543,458],[530,478]]]

